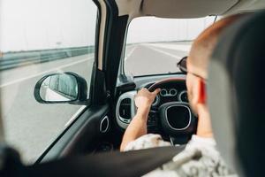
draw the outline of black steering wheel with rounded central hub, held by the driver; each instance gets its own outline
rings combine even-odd
[[[163,88],[170,82],[181,82],[185,79],[166,79],[156,81],[148,90],[153,92],[155,89]],[[163,132],[170,137],[179,137],[185,135],[193,135],[196,131],[197,119],[195,118],[190,106],[186,102],[167,102],[158,107],[151,108],[148,119],[149,127],[161,126]]]

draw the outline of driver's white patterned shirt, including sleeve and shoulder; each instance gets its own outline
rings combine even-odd
[[[163,141],[161,135],[148,134],[129,142],[125,150],[140,150],[161,146],[170,146],[170,142]],[[192,139],[186,144],[185,150],[178,153],[169,163],[145,175],[145,177],[163,176],[236,177],[237,175],[224,164],[218,150],[216,150],[216,142],[213,138],[202,138],[193,135]]]

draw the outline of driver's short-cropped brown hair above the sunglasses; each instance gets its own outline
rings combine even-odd
[[[220,19],[216,23],[205,29],[193,42],[192,50],[189,55],[190,63],[195,68],[197,74],[207,78],[208,62],[216,47],[217,40],[225,27],[231,25],[243,14],[231,15]]]

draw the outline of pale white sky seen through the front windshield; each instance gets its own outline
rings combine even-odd
[[[193,40],[213,22],[214,17],[201,19],[136,18],[128,28],[127,43]]]

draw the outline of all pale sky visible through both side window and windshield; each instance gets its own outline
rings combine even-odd
[[[45,50],[94,45],[92,0],[1,0],[0,50]],[[207,19],[133,19],[127,42],[192,40]]]

